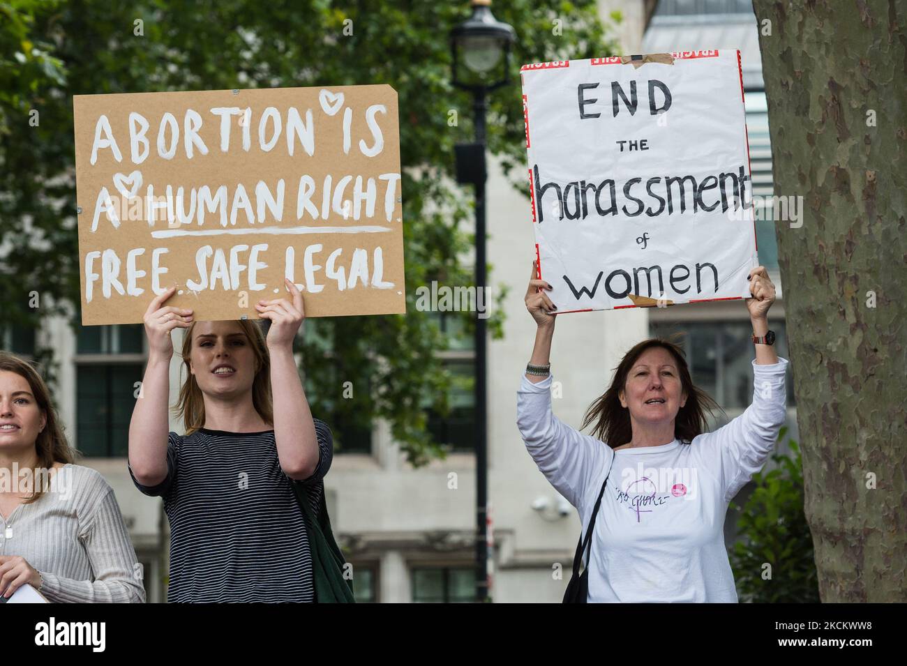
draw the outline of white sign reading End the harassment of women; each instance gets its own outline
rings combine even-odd
[[[539,277],[558,313],[749,297],[736,51],[522,67]]]

